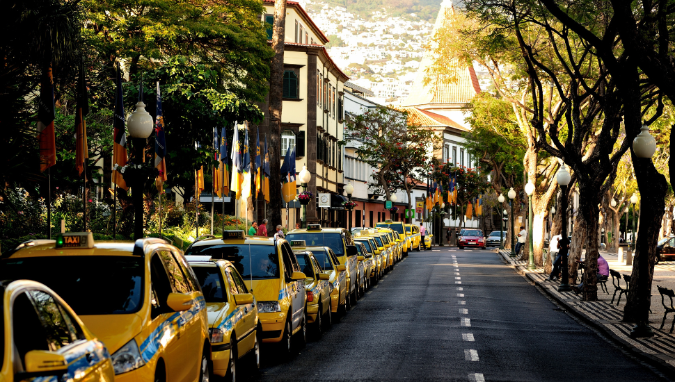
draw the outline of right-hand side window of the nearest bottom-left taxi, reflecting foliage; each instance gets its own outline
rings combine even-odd
[[[57,351],[72,342],[78,340],[77,332],[71,331],[72,326],[63,317],[54,297],[42,292],[42,290],[29,290],[29,296],[33,299],[35,310],[38,312],[40,322],[47,333],[47,345],[49,350]]]

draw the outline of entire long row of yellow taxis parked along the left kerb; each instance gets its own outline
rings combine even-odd
[[[292,356],[419,251],[406,226],[225,231],[184,254],[91,233],[24,242],[0,254],[0,382],[236,381],[260,368],[261,344]]]

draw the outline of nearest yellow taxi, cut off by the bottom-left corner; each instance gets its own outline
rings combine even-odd
[[[114,381],[108,349],[53,290],[19,280],[0,292],[0,381]]]

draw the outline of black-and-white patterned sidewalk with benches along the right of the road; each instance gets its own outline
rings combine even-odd
[[[652,338],[630,338],[630,329],[633,324],[621,322],[624,315],[623,308],[626,304],[626,296],[621,297],[621,304],[617,307],[617,299],[614,304],[610,304],[614,286],[610,277],[607,280],[606,294],[598,285],[598,299],[600,301],[581,301],[581,296],[574,292],[558,292],[559,282],[544,281],[548,274],[543,273],[543,267],[537,267],[533,270],[527,270],[527,261],[516,261],[509,256],[509,251],[497,251],[509,266],[516,272],[530,279],[535,285],[538,285],[546,294],[555,299],[558,304],[565,306],[571,313],[581,317],[585,322],[591,324],[596,329],[603,331],[606,335],[619,342],[621,347],[632,351],[636,356],[651,361],[653,365],[664,369],[668,373],[675,371],[675,331],[668,333],[670,325],[673,322],[673,314],[669,314],[663,330],[658,328],[661,325],[664,308],[661,304],[661,296],[656,290],[656,285],[673,289],[675,287],[675,263],[660,263],[654,269],[653,291],[651,297],[652,314],[649,315],[651,329],[655,335]],[[621,274],[630,274],[630,266],[617,263],[617,255],[601,251],[601,256],[607,260],[610,269],[614,269]],[[621,286],[625,286],[621,281]],[[618,293],[617,293],[618,296]],[[667,301],[669,302],[669,301]]]

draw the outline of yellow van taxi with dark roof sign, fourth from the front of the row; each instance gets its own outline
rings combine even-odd
[[[244,231],[224,231],[223,238],[194,242],[185,251],[191,256],[228,260],[255,297],[262,326],[262,342],[280,344],[290,356],[294,342],[307,341],[305,274],[284,239],[247,236]]]

